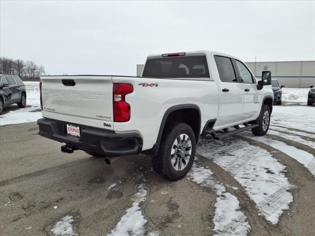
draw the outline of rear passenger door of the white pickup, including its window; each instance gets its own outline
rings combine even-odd
[[[244,120],[243,85],[237,81],[237,74],[232,59],[219,55],[214,56],[219,76],[219,126],[229,125]]]

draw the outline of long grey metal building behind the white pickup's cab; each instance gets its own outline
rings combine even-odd
[[[286,88],[310,88],[315,85],[315,60],[245,63],[257,79],[261,78],[263,70],[270,70],[272,77],[278,79]],[[137,76],[141,76],[142,69],[143,64],[137,64]]]

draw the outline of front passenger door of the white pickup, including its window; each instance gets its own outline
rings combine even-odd
[[[233,60],[237,75],[244,89],[244,118],[255,119],[260,111],[261,93],[257,89],[256,81],[247,66],[237,59]]]

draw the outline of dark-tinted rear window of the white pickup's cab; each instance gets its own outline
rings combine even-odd
[[[143,77],[210,78],[206,56],[147,59]]]

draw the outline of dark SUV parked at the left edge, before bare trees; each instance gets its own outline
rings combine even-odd
[[[26,105],[25,84],[17,75],[0,75],[0,115],[3,109],[17,103],[19,107]]]

